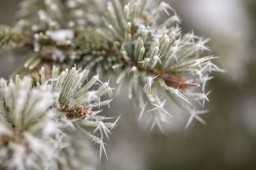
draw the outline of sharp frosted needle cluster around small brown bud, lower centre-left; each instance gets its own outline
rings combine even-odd
[[[105,123],[105,119],[109,119],[105,116],[99,116],[98,113],[102,110],[96,110],[95,108],[100,108],[104,105],[109,105],[112,99],[101,100],[101,97],[105,94],[111,96],[112,89],[109,87],[109,82],[102,82],[99,79],[99,75],[95,75],[83,85],[84,81],[87,79],[89,71],[84,69],[79,73],[75,67],[70,71],[66,69],[62,71],[61,74],[58,73],[58,68],[53,66],[52,68],[52,78],[46,79],[45,71],[42,67],[41,69],[41,85],[49,84],[51,85],[52,92],[58,92],[60,94],[58,98],[58,104],[55,105],[56,108],[61,111],[61,122],[71,127],[75,127],[79,132],[87,136],[93,142],[100,144],[100,158],[102,155],[102,149],[105,154],[105,147],[102,141],[103,134],[108,138],[108,134],[111,133],[109,128],[116,126],[116,119],[114,123]],[[99,88],[94,91],[89,89],[99,83]],[[38,83],[38,88],[41,87]],[[94,132],[100,131],[101,137],[97,137],[90,132],[84,130],[82,126],[96,127]],[[94,133],[93,132],[93,133]]]

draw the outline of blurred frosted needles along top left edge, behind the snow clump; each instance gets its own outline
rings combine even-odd
[[[23,0],[17,17],[17,26],[34,33],[59,29],[82,31],[87,24],[99,23],[95,0]]]

